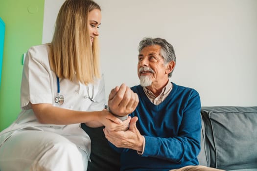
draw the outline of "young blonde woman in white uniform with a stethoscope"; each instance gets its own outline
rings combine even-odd
[[[104,109],[100,23],[98,4],[66,0],[52,42],[29,48],[21,85],[23,110],[0,132],[0,171],[86,171],[91,141],[80,123],[127,127],[130,118],[121,122]],[[125,115],[135,109],[138,97],[126,85],[118,88],[109,105]],[[120,99],[124,94],[129,98]]]

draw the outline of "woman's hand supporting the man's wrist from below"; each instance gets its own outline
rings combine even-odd
[[[118,131],[118,130],[127,130],[129,127],[129,122],[131,117],[129,116],[124,121],[121,121],[112,113],[108,112],[106,109],[99,112],[99,122],[105,126],[105,128]]]

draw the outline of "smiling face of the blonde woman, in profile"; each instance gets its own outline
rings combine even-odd
[[[98,28],[101,24],[101,11],[99,9],[93,9],[88,14],[89,19],[89,33],[90,33],[90,42],[93,44],[95,36],[99,36]]]

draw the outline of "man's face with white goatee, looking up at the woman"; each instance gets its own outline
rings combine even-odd
[[[141,86],[166,84],[168,81],[167,67],[161,56],[161,46],[144,47],[139,53],[138,76]]]

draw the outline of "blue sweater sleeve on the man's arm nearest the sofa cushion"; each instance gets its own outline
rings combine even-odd
[[[201,103],[199,94],[192,90],[187,101],[181,102],[182,120],[177,136],[145,137],[145,148],[142,156],[183,163],[196,158],[200,152],[201,140]],[[173,113],[175,114],[175,113]]]

